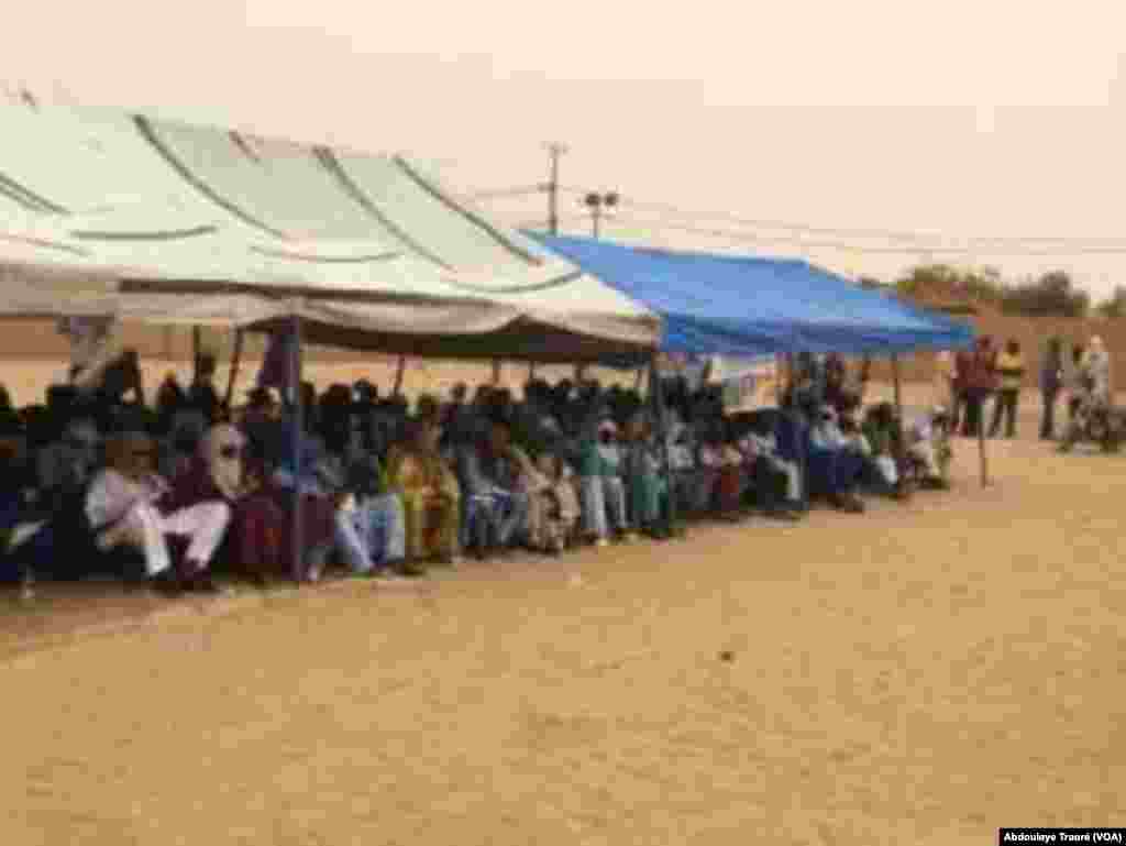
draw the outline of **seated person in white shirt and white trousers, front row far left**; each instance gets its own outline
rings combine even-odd
[[[86,498],[86,518],[101,552],[120,547],[138,550],[145,575],[160,587],[214,593],[209,573],[231,522],[222,499],[172,510],[168,483],[154,472],[155,447],[148,435],[125,433],[107,444],[107,467],[95,477]],[[169,538],[187,542],[173,563]]]

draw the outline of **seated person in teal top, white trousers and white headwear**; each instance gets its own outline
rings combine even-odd
[[[597,438],[583,438],[580,447],[583,531],[598,546],[609,543],[611,527],[622,540],[633,540],[626,519],[625,462],[617,434],[618,427],[613,420],[602,420]]]

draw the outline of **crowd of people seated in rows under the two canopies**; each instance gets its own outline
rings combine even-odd
[[[98,390],[56,385],[18,411],[0,393],[0,575],[111,575],[169,595],[216,591],[220,570],[399,578],[463,554],[667,540],[673,513],[796,520],[811,498],[856,513],[865,495],[942,487],[944,415],[861,413],[835,365],[798,371],[779,409],[749,415],[671,380],[662,442],[637,392],[569,380],[531,381],[520,400],[457,385],[413,410],[366,381],[304,384],[296,431],[269,389],[227,409],[206,356],[149,407],[126,353]]]

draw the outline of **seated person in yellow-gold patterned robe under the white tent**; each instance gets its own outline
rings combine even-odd
[[[406,556],[412,562],[457,559],[461,490],[457,478],[438,452],[440,429],[432,421],[415,421],[409,442],[392,451],[387,466],[391,487],[402,496],[406,517]],[[412,568],[411,572],[421,572]]]

